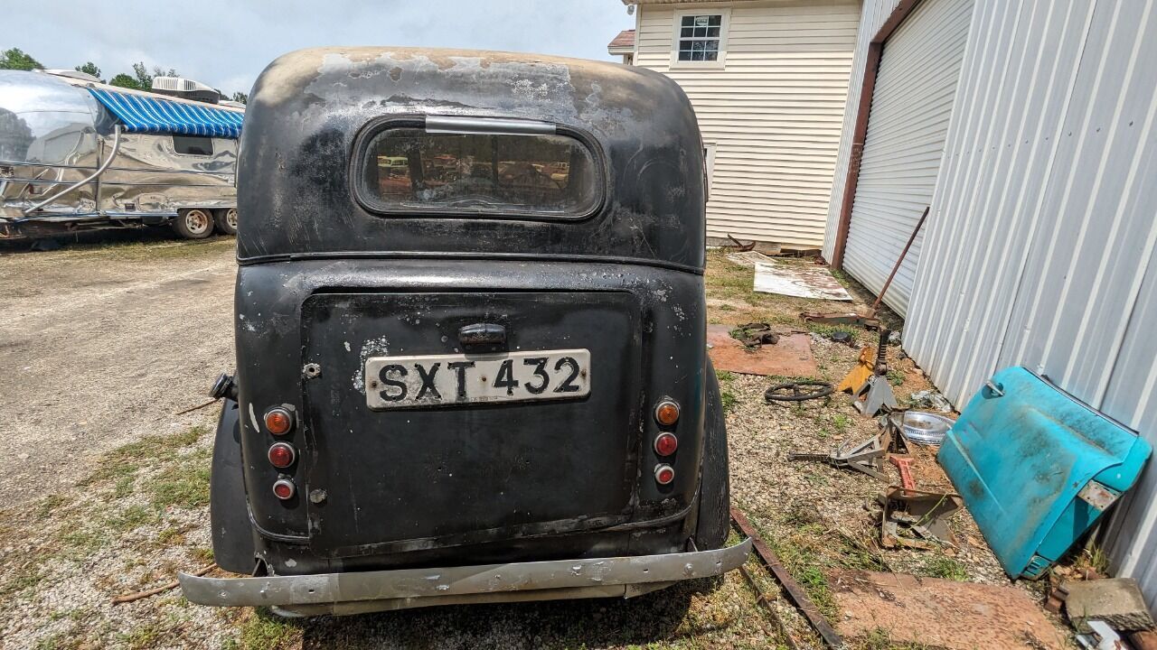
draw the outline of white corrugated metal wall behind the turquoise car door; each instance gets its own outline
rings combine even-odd
[[[1157,443],[1157,0],[978,0],[905,347],[1025,365]],[[1157,468],[1108,533],[1157,610]]]

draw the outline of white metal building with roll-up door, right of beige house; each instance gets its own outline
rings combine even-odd
[[[864,2],[825,257],[878,290],[929,205],[886,302],[944,394],[1024,365],[1157,444],[1157,0],[970,5]],[[1157,612],[1155,497],[1105,544]]]

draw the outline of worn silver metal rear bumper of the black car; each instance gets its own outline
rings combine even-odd
[[[460,603],[631,597],[743,564],[751,539],[716,551],[435,569],[211,578],[179,574],[199,605],[272,607],[283,615],[355,614]]]

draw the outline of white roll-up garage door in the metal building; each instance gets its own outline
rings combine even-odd
[[[972,0],[923,0],[884,42],[843,268],[879,293],[931,204],[972,20]],[[921,229],[884,302],[907,312]]]

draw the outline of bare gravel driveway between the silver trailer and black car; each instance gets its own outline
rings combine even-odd
[[[72,486],[102,452],[187,426],[174,414],[204,401],[234,364],[234,241],[134,235],[138,243],[0,250],[9,505]]]

